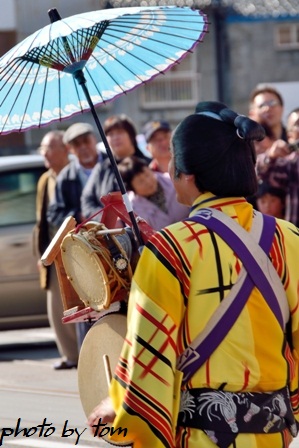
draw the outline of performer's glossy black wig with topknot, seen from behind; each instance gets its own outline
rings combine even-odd
[[[253,141],[265,131],[218,102],[198,103],[172,137],[175,175],[194,174],[201,192],[251,196],[257,190]]]

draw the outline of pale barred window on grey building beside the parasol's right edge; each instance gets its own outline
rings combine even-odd
[[[196,55],[188,55],[165,75],[157,76],[140,89],[141,107],[144,109],[193,107],[200,96],[200,80]]]

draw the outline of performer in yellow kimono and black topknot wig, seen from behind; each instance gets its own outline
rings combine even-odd
[[[169,171],[190,218],[217,210],[251,231],[257,212],[245,198],[256,191],[253,142],[263,136],[260,125],[221,103],[199,103],[179,124]],[[244,263],[204,223],[185,220],[150,238],[133,277],[110,398],[88,420],[93,432],[113,421],[111,442],[134,448],[290,445],[299,421],[299,230],[271,220],[267,255],[285,291],[278,301],[287,324],[253,284],[219,345],[183,382],[178,358],[228,300]]]

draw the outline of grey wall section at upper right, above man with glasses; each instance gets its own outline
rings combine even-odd
[[[251,21],[228,23],[230,52],[231,104],[241,113],[248,112],[248,98],[258,84],[276,84],[287,92],[288,83],[294,87],[299,106],[299,49],[278,50],[275,46],[275,27],[283,21]],[[282,86],[286,84],[286,86]],[[286,110],[290,106],[286,94]]]

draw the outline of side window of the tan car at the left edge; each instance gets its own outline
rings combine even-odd
[[[37,181],[43,167],[0,173],[0,227],[36,221]]]

